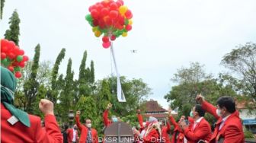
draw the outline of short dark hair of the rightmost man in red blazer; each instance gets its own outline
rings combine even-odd
[[[235,112],[235,100],[233,100],[232,97],[219,97],[219,99],[217,100],[217,105],[220,108],[225,107],[229,113]]]

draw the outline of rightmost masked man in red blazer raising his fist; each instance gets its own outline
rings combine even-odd
[[[217,120],[210,143],[222,141],[224,143],[242,143],[245,142],[242,121],[239,118],[238,110],[235,110],[235,101],[232,97],[219,97],[217,108],[206,102],[204,97],[199,94],[196,97],[198,103],[201,103],[206,112],[212,114]]]

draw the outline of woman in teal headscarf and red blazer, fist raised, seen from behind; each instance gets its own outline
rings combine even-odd
[[[14,106],[16,84],[11,71],[1,66],[1,142],[62,143],[62,134],[53,113],[53,103],[50,100],[40,100],[39,109],[44,114],[45,122],[43,129],[40,117],[27,114]]]

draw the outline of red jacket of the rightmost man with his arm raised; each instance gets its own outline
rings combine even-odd
[[[202,107],[203,110],[206,110],[208,113],[215,116],[216,119],[218,119],[212,138],[210,138],[210,143],[215,143],[216,141],[219,141],[220,138],[224,139],[223,143],[245,142],[242,122],[239,118],[238,110],[236,110],[235,113],[232,113],[228,117],[228,119],[226,119],[226,122],[224,122],[222,129],[219,130],[219,126],[222,122],[222,117],[219,117],[216,114],[216,107],[206,101],[203,101]]]

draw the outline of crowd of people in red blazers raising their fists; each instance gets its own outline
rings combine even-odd
[[[17,109],[14,106],[14,91],[16,79],[7,68],[1,67],[1,142],[79,142],[98,143],[98,132],[94,129],[91,119],[80,122],[80,111],[76,112],[75,125],[72,128],[64,127],[61,132],[53,112],[53,103],[42,99],[39,109],[44,114],[44,120]],[[135,143],[216,143],[216,142],[245,142],[242,122],[239,112],[235,109],[232,97],[219,97],[216,106],[208,103],[199,94],[197,103],[191,109],[190,116],[181,116],[175,121],[171,110],[168,110],[166,122],[158,121],[149,116],[146,122],[140,110],[137,110],[139,128],[133,128],[133,142]],[[107,128],[113,122],[120,122],[117,116],[108,118],[111,104],[103,113],[104,126]],[[212,130],[210,123],[204,118],[205,113],[212,114],[216,119],[215,128]],[[173,126],[173,131],[170,130]]]

